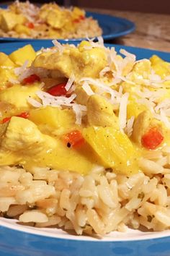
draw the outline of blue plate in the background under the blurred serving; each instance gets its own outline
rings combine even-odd
[[[0,8],[6,8],[6,5],[0,5]],[[113,38],[118,38],[122,35],[127,35],[128,33],[133,32],[135,30],[135,24],[130,20],[126,20],[120,17],[114,17],[107,14],[98,14],[95,12],[86,12],[87,17],[93,17],[95,20],[98,20],[100,27],[102,27],[103,34],[102,37],[104,40],[110,40]],[[30,41],[35,39],[30,38],[0,38],[1,41]],[[48,41],[48,39],[36,39],[38,41],[42,40]],[[83,38],[76,38],[76,39],[66,39],[61,40],[60,42],[65,43],[66,41],[75,42],[81,41]]]

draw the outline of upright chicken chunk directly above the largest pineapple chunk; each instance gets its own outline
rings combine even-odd
[[[112,104],[104,97],[100,95],[91,95],[86,106],[90,125],[115,127],[115,129],[119,129],[118,119],[113,112]]]

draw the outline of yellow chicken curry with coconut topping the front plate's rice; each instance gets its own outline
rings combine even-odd
[[[99,43],[0,53],[0,165],[140,171],[169,145],[169,63]]]

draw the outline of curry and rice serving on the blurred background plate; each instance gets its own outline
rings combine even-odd
[[[86,38],[102,35],[93,17],[78,7],[59,7],[55,2],[37,7],[29,1],[14,1],[0,8],[0,37],[7,38]]]

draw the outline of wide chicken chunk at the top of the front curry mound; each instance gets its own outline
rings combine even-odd
[[[99,72],[107,64],[107,54],[103,48],[73,48],[68,46],[63,54],[47,52],[39,54],[34,67],[50,69],[54,77],[99,77]]]

